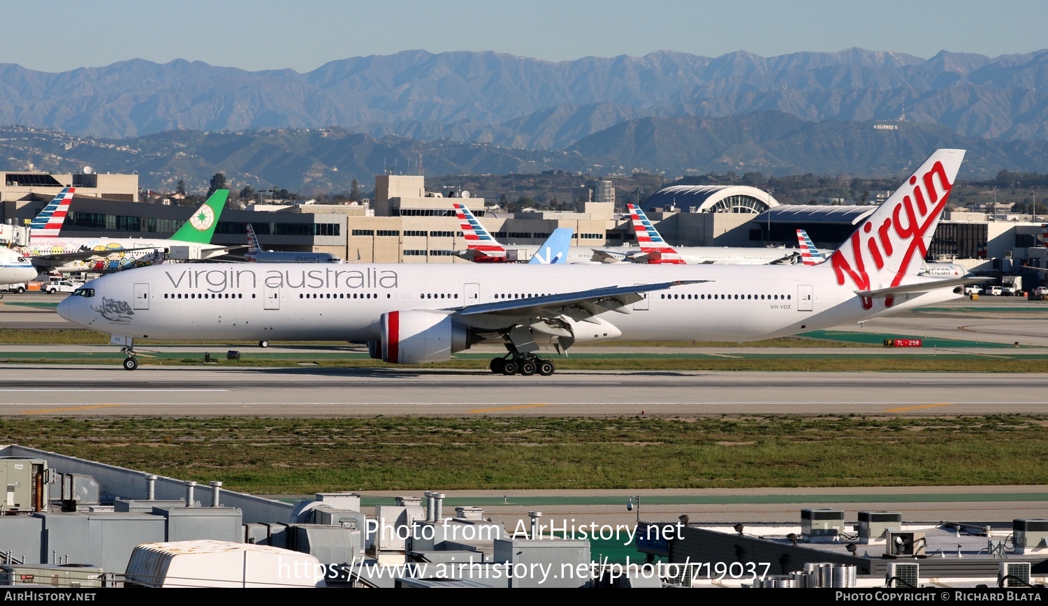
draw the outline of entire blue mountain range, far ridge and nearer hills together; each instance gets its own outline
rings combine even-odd
[[[45,131],[70,136],[65,149],[36,156],[16,143],[8,158],[27,154],[44,170],[130,165],[161,181],[223,170],[245,182],[339,186],[323,173],[370,178],[392,162],[417,166],[419,156],[428,174],[880,174],[944,144],[973,150],[967,172],[980,174],[1048,170],[1046,85],[1048,49],[929,60],[858,48],[657,51],[555,63],[409,50],[306,73],[181,60],[61,73],[0,64],[0,125],[29,127],[5,133],[32,132],[38,142]],[[3,138],[0,149],[18,139]],[[343,149],[329,149],[335,140]],[[161,141],[184,157],[147,161]],[[103,153],[119,148],[127,158]]]

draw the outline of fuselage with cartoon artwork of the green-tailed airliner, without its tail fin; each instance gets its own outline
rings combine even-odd
[[[212,244],[151,238],[34,238],[28,245],[20,247],[19,252],[31,261],[41,255],[95,251],[97,254],[88,259],[61,261],[49,265],[48,269],[61,273],[105,272],[159,263],[167,259],[167,251],[173,246],[199,247],[201,255],[210,250],[225,250],[225,247]],[[119,252],[111,252],[113,249]]]

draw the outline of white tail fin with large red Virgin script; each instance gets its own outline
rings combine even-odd
[[[946,207],[963,150],[939,150],[924,161],[831,256],[837,284],[857,290],[898,286],[917,274]],[[892,298],[885,300],[892,306]],[[863,308],[873,300],[863,297]]]

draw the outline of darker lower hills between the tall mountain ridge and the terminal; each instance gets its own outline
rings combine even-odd
[[[173,189],[185,180],[205,189],[225,173],[235,187],[308,193],[370,188],[386,171],[425,175],[541,173],[593,175],[647,172],[668,179],[709,172],[896,176],[936,148],[968,150],[963,179],[1000,170],[1048,173],[1048,141],[997,142],[962,137],[945,127],[898,122],[810,122],[778,112],[718,118],[629,120],[565,151],[534,151],[449,140],[375,138],[344,129],[279,129],[242,133],[169,131],[126,139],[75,137],[57,131],[0,127],[4,170],[136,171],[143,187]],[[315,188],[315,189],[314,189]]]

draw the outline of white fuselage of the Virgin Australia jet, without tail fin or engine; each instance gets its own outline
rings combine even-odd
[[[916,277],[916,276],[914,276]],[[909,279],[909,278],[908,278]],[[672,280],[706,280],[648,293],[624,311],[599,313],[619,338],[748,341],[796,334],[962,296],[944,288],[874,299],[825,266],[601,265],[167,265],[103,276],[59,314],[82,327],[135,339],[369,341],[391,311],[478,304]],[[888,285],[873,285],[874,288]],[[959,288],[956,290],[960,290]],[[499,317],[489,314],[489,327]],[[467,328],[477,316],[455,316]]]

